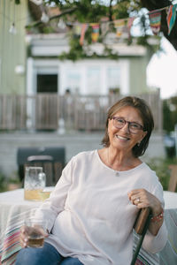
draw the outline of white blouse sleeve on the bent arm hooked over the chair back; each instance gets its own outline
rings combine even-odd
[[[161,201],[162,208],[164,208],[165,203],[163,199],[163,188],[160,183],[158,184],[158,186],[156,186],[153,194],[158,198],[159,201]],[[145,238],[142,243],[142,247],[148,252],[156,254],[165,247],[166,240],[167,240],[167,230],[165,227],[165,220],[164,220],[156,236],[153,236],[150,233],[150,231],[146,232]]]

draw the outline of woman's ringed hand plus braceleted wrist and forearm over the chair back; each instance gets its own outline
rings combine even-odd
[[[136,205],[137,208],[147,208],[150,207],[153,216],[160,216],[163,213],[163,208],[161,206],[161,202],[158,200],[156,196],[152,193],[149,193],[145,189],[135,189],[128,193],[128,199],[133,204]],[[159,228],[163,223],[162,218],[157,218],[158,222],[150,222],[149,230],[150,232],[156,236]]]

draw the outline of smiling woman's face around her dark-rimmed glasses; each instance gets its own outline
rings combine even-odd
[[[122,117],[128,122],[135,122],[143,126],[142,117],[140,117],[138,110],[130,106],[123,107],[113,117]],[[122,128],[118,129],[113,125],[113,119],[109,120],[108,134],[110,145],[113,148],[126,151],[131,150],[137,143],[142,141],[147,133],[142,130],[139,130],[137,133],[131,133],[128,126],[128,123],[126,123]]]

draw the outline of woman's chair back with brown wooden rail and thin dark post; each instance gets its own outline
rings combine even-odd
[[[146,231],[148,230],[151,218],[151,210],[150,208],[142,208],[139,211],[139,214],[135,220],[134,229],[136,234],[139,235],[139,241],[135,248],[135,253],[133,255],[133,259],[130,265],[135,265],[135,261],[137,260],[137,256],[140,252],[142,241],[145,237]]]

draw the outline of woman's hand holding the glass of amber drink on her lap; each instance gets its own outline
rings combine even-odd
[[[21,247],[27,247],[28,246],[28,238],[29,235],[32,232],[37,232],[40,235],[42,235],[44,238],[47,238],[49,236],[48,233],[46,233],[42,227],[29,227],[27,225],[23,225],[20,229],[20,236],[19,236],[19,243],[21,245]]]

